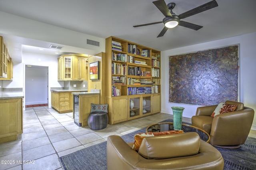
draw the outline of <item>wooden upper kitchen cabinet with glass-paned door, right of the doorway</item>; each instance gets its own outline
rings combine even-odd
[[[88,58],[62,55],[58,58],[58,80],[87,80]]]

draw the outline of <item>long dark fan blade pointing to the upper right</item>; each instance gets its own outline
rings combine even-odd
[[[200,12],[204,12],[206,10],[210,10],[210,9],[215,8],[217,6],[218,6],[218,4],[217,4],[216,0],[212,0],[212,1],[208,2],[208,3],[206,3],[206,4],[198,6],[198,7],[194,8],[194,9],[192,9],[192,10],[184,12],[184,13],[180,14],[178,17],[180,19],[187,18],[189,16],[198,14]]]

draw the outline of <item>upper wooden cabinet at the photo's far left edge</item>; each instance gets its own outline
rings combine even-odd
[[[0,80],[12,80],[12,59],[2,36],[0,36],[0,46]]]

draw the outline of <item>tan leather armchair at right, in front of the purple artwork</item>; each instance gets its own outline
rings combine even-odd
[[[226,104],[237,105],[232,112],[211,117],[217,105],[198,107],[196,115],[192,116],[192,125],[203,129],[210,135],[209,143],[222,148],[236,149],[246,141],[254,110],[245,107],[243,103],[226,101]]]

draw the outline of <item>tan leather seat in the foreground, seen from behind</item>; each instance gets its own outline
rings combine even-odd
[[[108,137],[108,170],[223,170],[224,160],[195,132],[145,137],[137,151],[117,135]]]

